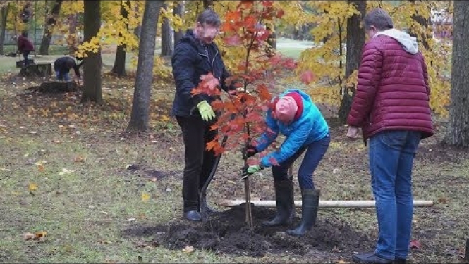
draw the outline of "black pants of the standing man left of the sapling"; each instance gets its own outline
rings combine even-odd
[[[199,210],[199,190],[212,171],[213,151],[206,151],[205,145],[217,135],[217,130],[210,130],[212,122],[205,122],[200,115],[190,117],[177,116],[176,120],[183,132],[184,141],[184,176],[183,201],[184,212]]]

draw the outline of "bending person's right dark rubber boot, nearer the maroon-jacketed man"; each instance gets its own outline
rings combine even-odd
[[[319,207],[319,189],[301,190],[301,223],[293,230],[286,230],[287,234],[295,237],[303,237],[306,232],[315,225],[317,209]]]

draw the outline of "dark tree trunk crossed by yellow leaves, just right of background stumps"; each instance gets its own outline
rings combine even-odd
[[[83,11],[83,41],[89,42],[95,37],[101,27],[101,1],[84,1]],[[101,49],[96,53],[88,52],[83,60],[83,95],[82,102],[95,101],[101,103]]]

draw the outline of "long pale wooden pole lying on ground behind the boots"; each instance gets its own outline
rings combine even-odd
[[[245,200],[236,199],[236,200],[222,200],[217,204],[219,206],[233,207],[239,206],[240,204],[245,203]],[[250,200],[254,206],[259,207],[275,207],[276,201],[272,200]],[[433,206],[433,201],[423,201],[423,200],[414,200],[414,206],[416,207],[427,207]],[[322,208],[372,208],[375,206],[374,200],[358,200],[358,201],[319,201],[319,207]],[[295,207],[301,207],[301,201],[295,201]]]

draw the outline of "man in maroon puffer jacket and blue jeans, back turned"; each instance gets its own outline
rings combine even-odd
[[[362,263],[405,262],[413,218],[412,167],[421,139],[433,134],[427,66],[415,37],[393,28],[386,11],[365,15],[363,47],[347,136],[369,139],[379,237]]]

